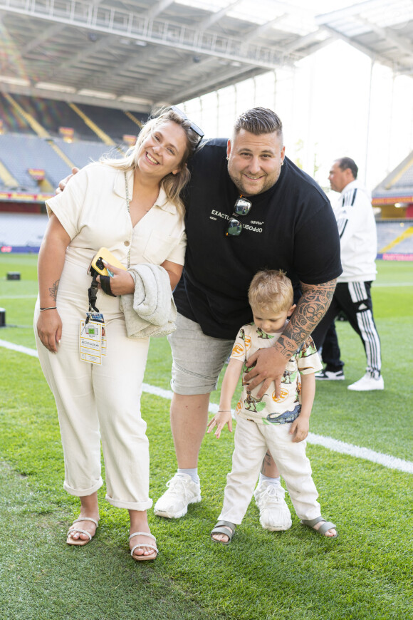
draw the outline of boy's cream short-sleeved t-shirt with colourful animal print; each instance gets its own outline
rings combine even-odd
[[[249,357],[260,348],[273,346],[280,336],[281,332],[266,334],[265,331],[254,323],[244,325],[236,336],[231,358],[244,361],[244,373],[248,371],[245,363]],[[236,405],[236,414],[241,418],[253,420],[261,424],[293,422],[298,418],[301,410],[300,375],[316,373],[322,368],[323,366],[318,357],[313,339],[311,336],[308,336],[303,345],[287,363],[281,381],[281,395],[279,398],[276,398],[275,383],[271,383],[261,399],[258,399],[256,396],[261,385],[254,388],[251,392],[247,392],[247,386],[243,386],[241,398]]]

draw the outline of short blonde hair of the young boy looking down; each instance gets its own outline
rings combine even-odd
[[[248,300],[253,309],[261,308],[274,312],[289,310],[294,302],[291,279],[281,269],[263,269],[251,280]]]

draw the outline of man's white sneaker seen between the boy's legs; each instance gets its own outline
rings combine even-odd
[[[263,529],[269,529],[271,532],[290,529],[291,514],[284,495],[286,492],[281,485],[261,482],[256,487],[253,496],[260,511],[260,523]]]

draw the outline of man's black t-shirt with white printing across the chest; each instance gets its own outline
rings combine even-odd
[[[249,197],[239,237],[226,237],[239,191],[227,171],[226,140],[209,140],[192,159],[185,192],[187,253],[174,291],[178,311],[204,334],[233,339],[251,321],[248,289],[259,269],[283,269],[293,284],[340,275],[340,240],[323,190],[286,157],[273,187]]]

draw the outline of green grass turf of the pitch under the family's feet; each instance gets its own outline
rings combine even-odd
[[[34,347],[36,257],[0,257],[0,339]],[[378,263],[373,288],[383,346],[384,392],[350,393],[362,376],[362,345],[338,324],[346,380],[320,383],[310,430],[413,461],[412,263]],[[2,271],[4,273],[2,273]],[[6,281],[20,271],[21,281]],[[380,286],[383,284],[384,286]],[[394,286],[394,285],[397,286]],[[145,381],[169,389],[170,353],[151,343]],[[328,541],[293,516],[285,533],[259,526],[253,502],[229,547],[209,531],[231,467],[232,435],[206,437],[199,470],[203,500],[182,520],[150,511],[160,555],[132,562],[127,515],[105,502],[92,543],[67,547],[77,500],[63,492],[63,455],[53,397],[36,358],[0,348],[0,619],[405,620],[413,617],[413,477],[308,445],[323,515],[340,536]],[[213,400],[217,401],[214,394]],[[174,472],[169,403],[144,394],[151,446],[151,495]],[[289,501],[289,500],[288,500]]]

